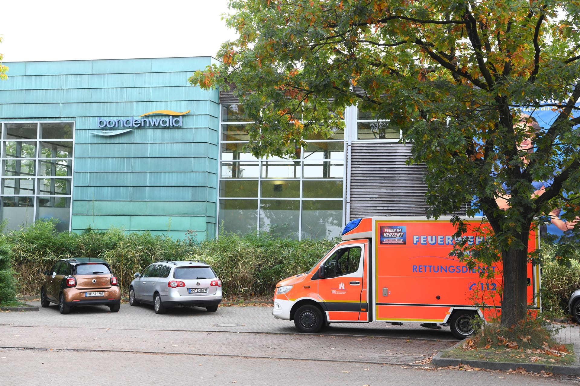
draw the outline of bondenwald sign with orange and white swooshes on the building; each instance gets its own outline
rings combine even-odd
[[[191,110],[180,113],[171,110],[156,110],[144,113],[139,117],[126,119],[103,119],[102,117],[99,117],[97,118],[97,126],[99,126],[99,128],[101,127],[103,128],[130,127],[130,128],[124,128],[119,130],[101,130],[97,133],[90,134],[110,136],[126,133],[127,131],[131,131],[133,130],[133,128],[136,127],[181,127],[183,124],[182,115],[186,115],[190,111]],[[154,114],[162,114],[165,116],[143,118],[144,116],[150,116]]]

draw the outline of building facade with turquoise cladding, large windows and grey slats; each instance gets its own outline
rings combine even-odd
[[[346,109],[345,130],[298,159],[256,159],[231,93],[187,83],[211,57],[7,63],[0,82],[0,218],[60,230],[118,227],[199,240],[219,231],[339,236],[369,215],[425,214],[424,168],[385,120]]]

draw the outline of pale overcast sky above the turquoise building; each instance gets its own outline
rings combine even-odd
[[[3,63],[215,57],[235,38],[227,12],[227,0],[4,1],[0,53]]]

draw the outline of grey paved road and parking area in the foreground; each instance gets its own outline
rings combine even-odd
[[[31,302],[38,304],[38,302]],[[299,334],[270,307],[81,307],[61,315],[0,313],[0,384],[451,385],[577,384],[577,377],[440,369],[431,356],[457,342],[416,323],[332,324]],[[510,386],[511,386],[510,385]]]

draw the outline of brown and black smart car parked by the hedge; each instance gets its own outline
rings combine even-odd
[[[42,307],[58,304],[61,314],[77,306],[108,306],[116,313],[121,308],[121,289],[106,261],[63,259],[44,271],[40,303]]]

